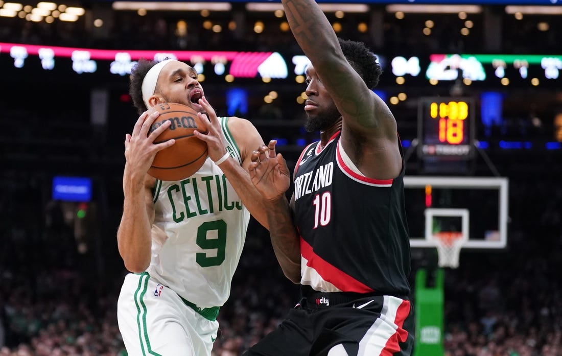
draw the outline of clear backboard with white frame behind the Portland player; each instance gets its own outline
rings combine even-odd
[[[436,247],[435,236],[454,232],[462,248],[505,248],[508,188],[504,177],[404,177],[411,247]]]

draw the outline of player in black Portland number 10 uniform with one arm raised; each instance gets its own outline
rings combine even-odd
[[[297,161],[291,203],[276,142],[252,156],[275,254],[302,299],[245,355],[411,355],[405,163],[396,120],[371,90],[380,66],[364,44],[339,40],[314,0],[282,3],[311,61],[305,126],[320,141]]]

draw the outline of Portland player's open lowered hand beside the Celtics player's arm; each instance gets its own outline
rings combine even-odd
[[[253,185],[268,200],[282,197],[291,185],[287,162],[280,153],[275,153],[277,140],[271,140],[252,153],[250,178]]]

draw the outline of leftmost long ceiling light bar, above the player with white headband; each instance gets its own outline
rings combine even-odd
[[[166,1],[115,1],[113,10],[135,10],[147,11],[230,11],[232,5],[229,2],[166,2]]]

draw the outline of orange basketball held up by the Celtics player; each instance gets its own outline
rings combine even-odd
[[[158,136],[156,143],[175,139],[175,143],[156,154],[148,174],[167,181],[182,180],[193,175],[207,159],[207,143],[193,135],[201,130],[201,121],[192,108],[178,103],[163,103],[153,107],[160,112],[150,132],[171,121],[171,125]]]

